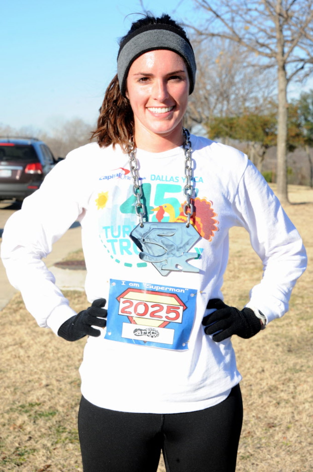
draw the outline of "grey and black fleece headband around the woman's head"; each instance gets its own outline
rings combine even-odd
[[[126,80],[129,68],[139,56],[148,51],[168,49],[181,56],[187,66],[190,89],[195,88],[195,54],[186,36],[171,25],[146,25],[129,34],[121,42],[118,51],[118,82],[121,94],[125,97]]]

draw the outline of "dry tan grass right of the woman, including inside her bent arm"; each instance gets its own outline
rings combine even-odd
[[[303,237],[309,264],[282,319],[252,339],[233,338],[244,400],[237,472],[313,471],[313,190],[292,190],[289,198],[296,204],[285,210]],[[223,289],[227,301],[242,306],[261,269],[246,232],[233,228]]]

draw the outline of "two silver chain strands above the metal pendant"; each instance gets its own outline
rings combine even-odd
[[[189,141],[190,133],[186,128],[183,128],[183,134],[185,137],[185,142],[183,144],[183,148],[185,151],[185,177],[186,177],[186,184],[184,186],[184,195],[186,196],[186,202],[184,203],[184,215],[187,218],[186,227],[189,228],[190,225],[190,218],[194,214],[194,206],[191,202],[193,193],[194,193],[194,186],[193,186],[193,169],[192,169],[192,147],[191,142]],[[128,148],[128,158],[129,158],[129,166],[130,166],[130,173],[133,177],[133,194],[136,198],[135,203],[135,211],[136,215],[139,217],[139,224],[141,228],[144,226],[144,218],[146,217],[144,204],[142,203],[141,199],[143,196],[143,189],[139,182],[139,172],[138,172],[138,162],[136,159],[136,149],[134,143]]]

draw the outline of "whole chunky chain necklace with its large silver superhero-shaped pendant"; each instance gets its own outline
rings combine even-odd
[[[144,203],[142,202],[143,189],[140,184],[138,172],[138,162],[134,144],[128,149],[130,172],[133,177],[133,194],[136,198],[135,212],[139,218],[139,224],[133,229],[129,237],[140,249],[139,258],[145,262],[151,262],[153,266],[166,276],[170,271],[199,272],[199,269],[189,264],[191,259],[198,259],[198,253],[189,253],[189,249],[201,237],[193,225],[190,218],[194,214],[194,206],[191,202],[194,185],[192,169],[192,148],[189,140],[190,133],[183,128],[185,143],[185,177],[184,195],[184,222],[162,222],[147,221]]]

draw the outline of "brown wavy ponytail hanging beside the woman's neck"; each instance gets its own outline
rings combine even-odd
[[[129,100],[122,97],[118,75],[110,82],[102,102],[97,129],[92,138],[97,138],[101,147],[119,144],[127,152],[129,143],[134,140],[134,114]]]

